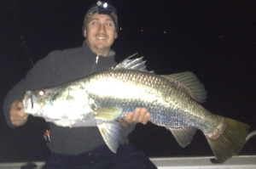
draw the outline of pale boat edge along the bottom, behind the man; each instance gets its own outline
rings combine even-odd
[[[234,156],[224,164],[213,156],[150,158],[159,169],[256,169],[256,155]],[[39,169],[44,161],[0,163],[0,169]]]

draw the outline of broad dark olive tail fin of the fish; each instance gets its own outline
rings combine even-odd
[[[235,121],[224,117],[226,127],[223,133],[218,138],[209,138],[207,141],[210,144],[213,154],[219,162],[224,162],[230,159],[233,155],[237,155],[245,144],[249,126],[240,121]]]

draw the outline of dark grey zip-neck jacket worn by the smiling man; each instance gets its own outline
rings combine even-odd
[[[9,119],[9,106],[15,100],[21,100],[26,90],[59,86],[93,72],[108,69],[116,65],[114,55],[111,50],[108,57],[97,56],[86,42],[82,48],[49,53],[34,65],[26,74],[26,78],[13,87],[4,100],[3,112],[9,127],[15,127]],[[120,144],[128,143],[127,136],[133,129],[134,125],[123,127],[123,139]],[[97,127],[57,127],[50,123],[49,149],[55,153],[78,155],[102,144],[105,142]]]

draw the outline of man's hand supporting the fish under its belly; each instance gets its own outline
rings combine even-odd
[[[129,124],[137,124],[138,122],[147,124],[150,114],[146,108],[137,108],[135,112],[127,113],[124,119],[120,119],[119,123],[124,127],[128,127]]]

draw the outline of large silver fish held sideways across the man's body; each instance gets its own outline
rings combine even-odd
[[[61,127],[97,126],[109,149],[116,152],[118,120],[125,112],[146,107],[149,121],[170,130],[182,147],[200,129],[218,161],[240,152],[249,126],[203,108],[199,103],[206,101],[207,92],[193,73],[156,75],[144,63],[142,58],[128,58],[75,82],[26,91],[24,111]]]

